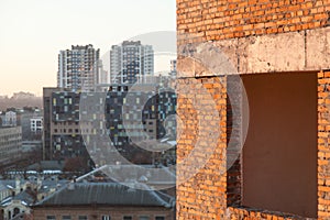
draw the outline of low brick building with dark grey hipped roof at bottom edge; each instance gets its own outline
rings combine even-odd
[[[34,219],[173,220],[175,198],[118,183],[70,183],[33,206]]]

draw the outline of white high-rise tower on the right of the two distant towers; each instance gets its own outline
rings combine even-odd
[[[110,51],[110,82],[143,82],[145,76],[154,74],[154,51],[140,41],[124,41]]]

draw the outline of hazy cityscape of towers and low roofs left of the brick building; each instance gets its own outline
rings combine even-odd
[[[175,219],[175,168],[139,167],[175,167],[176,61],[155,76],[153,45],[124,41],[109,59],[88,44],[57,63],[57,87],[42,99],[1,97],[0,219]],[[111,165],[129,172],[112,177]]]

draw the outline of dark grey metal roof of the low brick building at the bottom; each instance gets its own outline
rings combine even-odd
[[[175,198],[153,190],[132,189],[118,183],[70,183],[35,205],[44,206],[175,206]]]

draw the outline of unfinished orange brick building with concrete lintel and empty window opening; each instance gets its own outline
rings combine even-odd
[[[178,48],[190,54],[178,57],[179,86],[190,88],[178,95],[186,124],[178,164],[200,136],[200,145],[215,144],[209,158],[195,155],[207,163],[177,186],[178,219],[330,219],[329,25],[329,0],[177,0]],[[233,69],[200,58],[204,43]],[[228,99],[232,76],[241,77],[250,113],[241,114],[249,118],[246,140],[237,142],[243,148],[228,166],[237,132]],[[212,96],[219,123],[194,106],[201,89]],[[200,121],[220,135],[201,132]],[[178,178],[189,172],[178,166]]]

